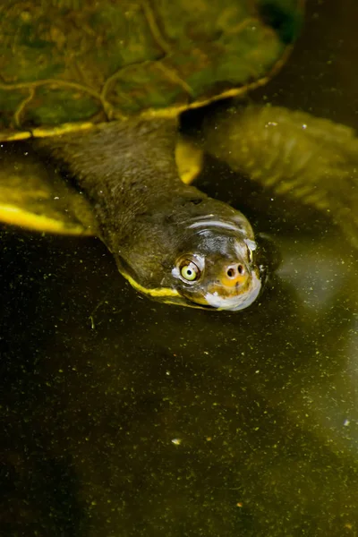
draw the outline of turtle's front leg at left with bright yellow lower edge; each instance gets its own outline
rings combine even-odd
[[[43,233],[98,234],[88,200],[26,142],[1,144],[0,222]]]

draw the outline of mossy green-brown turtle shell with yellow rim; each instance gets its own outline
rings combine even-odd
[[[268,80],[303,0],[3,0],[0,140],[177,115]]]

